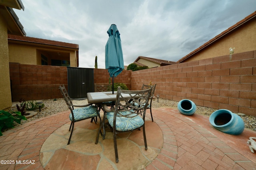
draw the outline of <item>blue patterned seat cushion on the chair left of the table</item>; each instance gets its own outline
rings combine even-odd
[[[73,110],[73,113],[75,121],[98,116],[96,106],[78,107]],[[69,119],[72,121],[72,113],[70,113]]]

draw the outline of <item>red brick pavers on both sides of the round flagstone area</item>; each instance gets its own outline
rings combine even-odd
[[[256,167],[255,162],[182,116],[177,109],[152,109],[154,121],[162,130],[164,143],[160,154],[146,170],[253,170]],[[0,160],[11,160],[14,164],[0,164],[0,169],[44,169],[40,162],[40,149],[52,132],[70,121],[68,115],[69,111],[57,113],[4,132],[0,137]],[[16,161],[21,163],[23,160],[34,164],[16,164]]]

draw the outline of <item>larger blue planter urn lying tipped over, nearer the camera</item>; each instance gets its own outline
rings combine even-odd
[[[211,125],[230,135],[239,135],[244,131],[243,119],[227,109],[214,111],[209,118]]]

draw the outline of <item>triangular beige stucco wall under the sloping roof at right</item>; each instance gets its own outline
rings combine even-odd
[[[230,47],[235,47],[234,53],[256,50],[256,18],[189,57],[185,62],[229,55]]]

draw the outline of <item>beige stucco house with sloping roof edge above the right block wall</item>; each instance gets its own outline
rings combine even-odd
[[[230,48],[234,48],[232,51],[234,53],[256,50],[256,11],[210,39],[177,63],[230,55]]]

